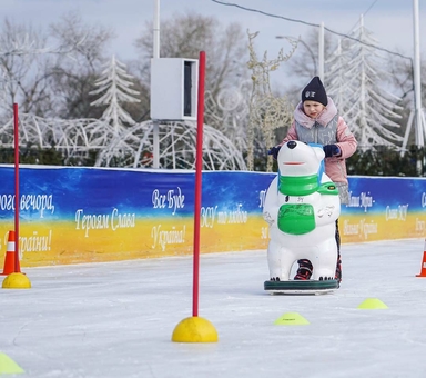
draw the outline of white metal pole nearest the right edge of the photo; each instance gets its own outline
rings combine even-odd
[[[425,127],[422,123],[422,84],[420,84],[420,31],[418,26],[418,0],[413,0],[414,17],[414,107],[416,116],[416,145],[423,147]]]

